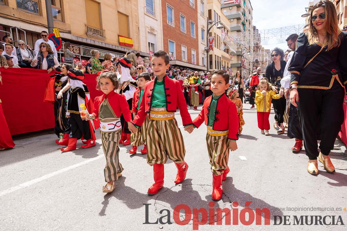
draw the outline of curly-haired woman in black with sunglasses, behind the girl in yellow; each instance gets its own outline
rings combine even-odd
[[[287,63],[283,60],[283,50],[278,47],[271,51],[271,57],[272,63],[266,67],[265,78],[268,78],[271,90],[278,93],[281,89],[281,79]],[[275,111],[273,127],[277,130],[277,134],[284,134],[283,115],[286,110],[286,99],[283,97],[283,91],[280,91],[280,96],[281,98],[272,100],[273,110]]]

